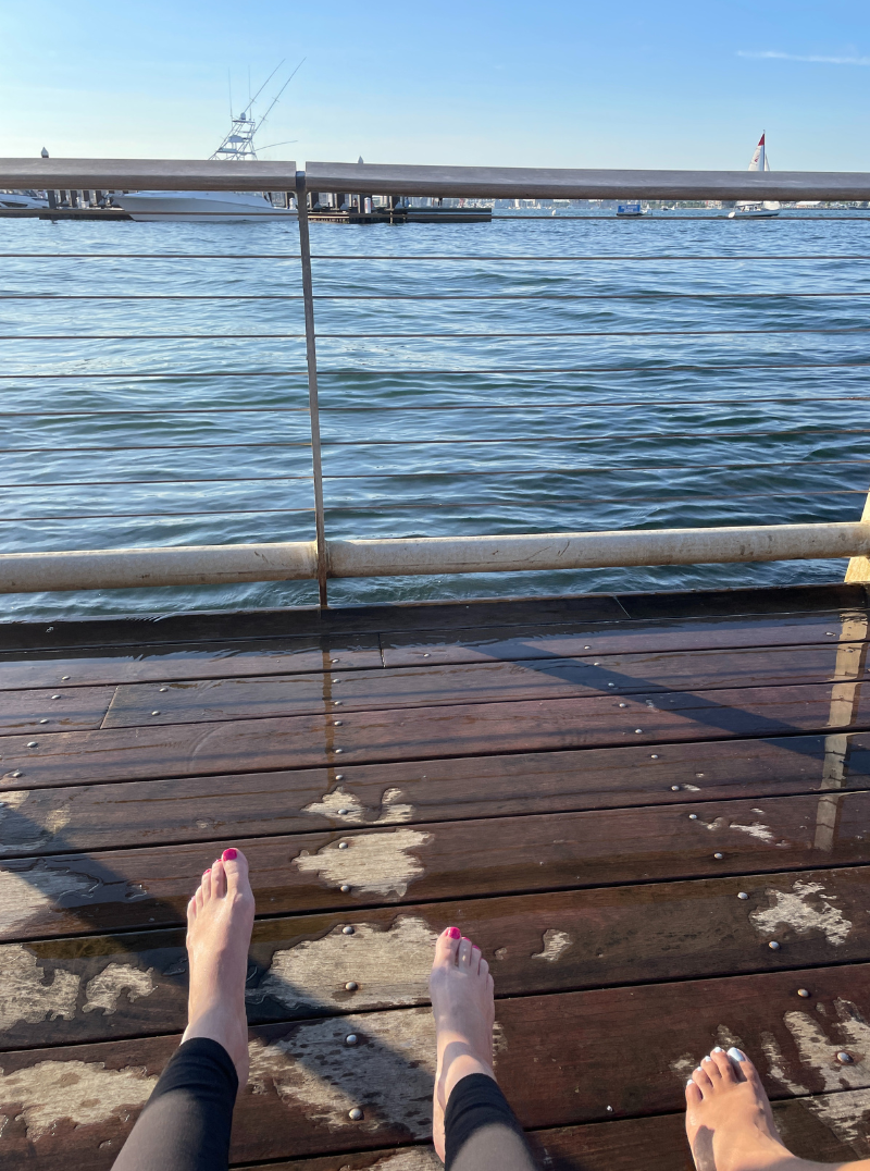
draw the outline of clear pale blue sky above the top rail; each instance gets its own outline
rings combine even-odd
[[[389,13],[389,15],[386,15]],[[203,158],[247,70],[304,57],[262,155],[297,160],[870,170],[857,0],[7,0],[0,155]]]

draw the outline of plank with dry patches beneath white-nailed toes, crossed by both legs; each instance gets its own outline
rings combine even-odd
[[[840,1090],[864,1091],[870,968],[815,968],[811,1002],[795,973],[502,1000],[496,1073],[527,1128],[678,1112],[687,1071],[718,1043],[739,1043],[770,1095],[822,1095],[835,1134]],[[344,1038],[359,1039],[348,1047]],[[433,1023],[426,1008],[273,1025],[254,1030],[252,1075],[237,1103],[234,1162],[383,1148],[431,1125]],[[109,1166],[177,1038],[4,1055],[0,1166]],[[837,1063],[847,1049],[852,1064]],[[615,1060],[631,1054],[631,1060]],[[71,1077],[70,1075],[75,1076]],[[47,1088],[64,1087],[57,1095]],[[62,1104],[60,1104],[62,1102]],[[862,1114],[868,1095],[856,1098]],[[362,1122],[348,1112],[359,1105]],[[611,1109],[608,1110],[608,1107]]]

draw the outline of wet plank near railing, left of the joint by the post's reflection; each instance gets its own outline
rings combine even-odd
[[[0,691],[82,684],[214,679],[336,667],[379,667],[377,635],[261,638],[132,648],[16,651],[0,655]],[[64,685],[67,685],[64,683]]]

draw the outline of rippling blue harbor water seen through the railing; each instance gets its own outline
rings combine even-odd
[[[313,225],[328,535],[859,516],[870,482],[862,215]],[[4,220],[0,237],[5,254],[37,254],[0,259],[2,552],[313,536],[299,262],[259,256],[296,253],[294,224]],[[763,259],[785,254],[797,259]],[[810,259],[844,254],[868,259]],[[737,255],[748,259],[667,259]],[[330,600],[834,581],[843,570],[337,581]],[[307,582],[266,583],[9,596],[5,614],[313,601]]]

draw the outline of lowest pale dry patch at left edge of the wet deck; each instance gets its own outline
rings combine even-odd
[[[61,1118],[84,1127],[136,1109],[156,1084],[157,1077],[150,1077],[144,1067],[107,1069],[102,1061],[40,1061],[16,1073],[0,1068],[0,1109],[14,1107],[15,1119],[23,1121],[27,1138],[34,1142]]]

